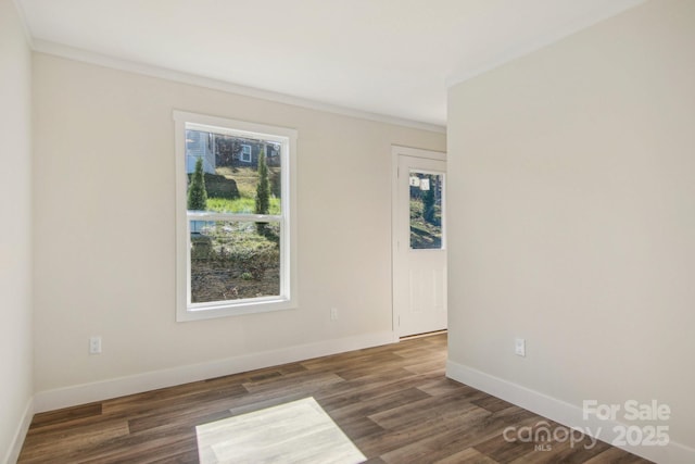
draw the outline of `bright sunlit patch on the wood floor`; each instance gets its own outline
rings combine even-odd
[[[201,464],[357,464],[367,459],[314,398],[199,425]]]

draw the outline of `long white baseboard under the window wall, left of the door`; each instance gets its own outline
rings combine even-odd
[[[155,390],[157,388],[173,387],[190,381],[205,380],[247,371],[304,361],[312,358],[394,343],[396,341],[399,341],[399,338],[392,331],[367,334],[336,340],[318,341],[315,343],[298,344],[279,350],[243,354],[224,360],[153,371],[126,377],[110,378],[91,384],[40,391],[34,397],[34,409],[37,413],[53,411],[61,407]]]

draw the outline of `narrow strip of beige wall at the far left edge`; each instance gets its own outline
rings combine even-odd
[[[30,86],[22,22],[0,0],[0,460],[12,457],[33,393]]]

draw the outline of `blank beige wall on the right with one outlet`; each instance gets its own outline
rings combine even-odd
[[[647,2],[453,87],[447,127],[450,360],[577,406],[656,399],[690,447],[694,43],[695,2]]]

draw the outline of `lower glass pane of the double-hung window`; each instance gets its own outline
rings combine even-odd
[[[280,223],[190,221],[191,302],[280,294]]]

